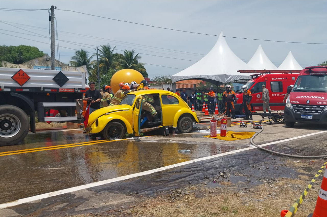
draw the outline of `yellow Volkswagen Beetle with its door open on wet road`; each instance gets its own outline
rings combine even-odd
[[[147,120],[149,114],[142,109],[142,102],[148,97],[154,100],[151,104],[157,111],[155,121]],[[86,131],[91,136],[118,139],[126,133],[139,136],[160,127],[177,127],[181,133],[189,133],[193,122],[198,123],[198,117],[180,96],[166,90],[140,90],[126,94],[119,105],[92,112]]]

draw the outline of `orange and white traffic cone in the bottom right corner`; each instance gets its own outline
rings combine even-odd
[[[327,213],[327,166],[325,175],[322,178],[321,188],[319,191],[316,208],[313,211],[312,217],[326,217]]]

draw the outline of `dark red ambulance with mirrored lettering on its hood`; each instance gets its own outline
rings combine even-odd
[[[295,122],[327,124],[327,66],[302,69],[293,89],[289,89],[284,118],[286,126]]]

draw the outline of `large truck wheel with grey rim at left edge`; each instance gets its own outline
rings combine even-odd
[[[0,106],[0,146],[15,145],[23,140],[29,130],[26,113],[16,106]]]

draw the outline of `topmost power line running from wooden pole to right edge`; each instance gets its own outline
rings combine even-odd
[[[184,30],[180,30],[180,29],[165,28],[165,27],[161,27],[161,26],[147,25],[147,24],[144,24],[144,23],[137,23],[137,22],[130,22],[130,21],[125,21],[125,20],[118,20],[118,19],[113,19],[113,18],[109,18],[109,17],[103,17],[103,16],[99,16],[99,15],[94,15],[94,14],[83,13],[83,12],[74,11],[74,10],[66,10],[66,9],[59,9],[59,8],[57,8],[57,10],[70,11],[70,12],[74,12],[74,13],[78,13],[78,14],[84,14],[84,15],[89,15],[89,16],[93,16],[93,17],[100,17],[100,18],[104,18],[104,19],[108,19],[108,20],[114,20],[114,21],[119,21],[119,22],[127,22],[127,23],[142,25],[142,26],[149,26],[149,27],[154,27],[154,28],[159,28],[159,29],[173,30],[173,31],[178,31],[178,32],[193,33],[193,34],[206,35],[206,36],[219,36],[219,35],[214,35],[214,34],[184,31]],[[327,43],[311,43],[311,42],[296,42],[296,41],[278,41],[278,40],[267,40],[267,39],[245,38],[245,37],[233,37],[233,36],[221,36],[221,37],[238,38],[238,39],[246,39],[246,40],[257,40],[257,41],[296,43],[296,44],[323,44],[323,45],[327,45]]]

